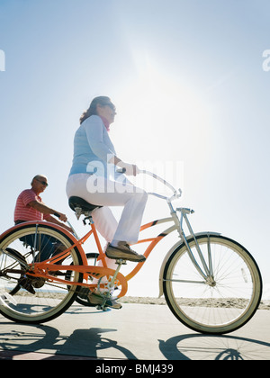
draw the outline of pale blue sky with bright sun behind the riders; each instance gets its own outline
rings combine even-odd
[[[269,21],[268,0],[0,0],[0,232],[38,173],[49,177],[44,202],[84,230],[65,193],[73,137],[92,98],[109,95],[118,155],[180,162],[172,179],[193,229],[237,239],[270,287]],[[166,215],[149,200],[145,221]],[[157,271],[166,247],[150,257]]]

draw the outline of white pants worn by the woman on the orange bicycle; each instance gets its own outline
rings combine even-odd
[[[94,205],[102,205],[92,213],[94,225],[108,242],[138,241],[139,228],[148,194],[128,183],[110,181],[101,176],[76,174],[67,180],[67,197],[77,196]],[[108,206],[124,206],[119,223]]]

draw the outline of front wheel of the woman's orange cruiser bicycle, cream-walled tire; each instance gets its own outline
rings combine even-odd
[[[178,320],[197,332],[220,335],[239,329],[253,317],[261,300],[263,284],[257,263],[231,238],[205,233],[196,240],[208,263],[211,247],[215,284],[203,282],[183,243],[165,266],[167,305]],[[195,255],[194,239],[188,242]]]

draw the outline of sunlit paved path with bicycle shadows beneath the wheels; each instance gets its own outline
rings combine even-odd
[[[0,359],[270,360],[270,311],[227,336],[187,329],[167,306],[124,304],[101,312],[74,304],[44,325],[0,316]]]

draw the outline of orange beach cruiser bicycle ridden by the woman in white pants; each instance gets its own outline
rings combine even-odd
[[[171,225],[138,242],[148,243],[144,252],[148,259],[160,240],[173,231],[178,234],[160,268],[159,296],[164,294],[175,317],[197,332],[225,334],[242,327],[257,311],[262,295],[255,259],[245,247],[220,233],[193,233],[188,215],[194,211],[175,209],[172,204],[180,198],[181,190],[151,172],[140,173],[151,175],[173,193],[170,197],[149,193],[166,201],[170,216],[151,221],[140,231],[157,224]],[[77,219],[84,215],[84,222],[90,223],[83,238],[78,238],[75,230],[71,234],[44,221],[24,222],[0,236],[0,313],[5,318],[31,324],[53,320],[74,301],[90,305],[87,297],[93,290],[103,296],[98,309],[105,311],[106,301],[123,297],[130,279],[146,264],[147,260],[138,263],[128,275],[120,272],[124,260],[117,260],[116,270],[108,268],[91,216],[96,206],[77,197],[72,197],[69,205]],[[83,245],[92,236],[98,253],[87,254]],[[51,248],[51,257],[45,261],[38,258],[42,248],[47,252]],[[103,266],[95,266],[97,258]]]

